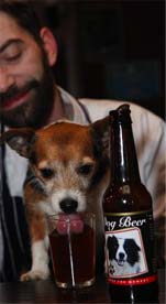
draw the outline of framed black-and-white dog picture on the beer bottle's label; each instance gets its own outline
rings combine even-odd
[[[133,276],[147,272],[140,229],[118,230],[107,236],[110,276]]]

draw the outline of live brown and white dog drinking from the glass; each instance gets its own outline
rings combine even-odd
[[[32,268],[21,275],[21,281],[44,280],[49,275],[45,215],[95,213],[100,259],[103,247],[101,202],[109,182],[108,122],[108,117],[89,126],[60,121],[37,131],[19,128],[2,134],[2,140],[30,162],[24,200]]]

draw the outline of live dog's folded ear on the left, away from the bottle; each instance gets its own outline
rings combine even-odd
[[[29,159],[35,131],[31,128],[10,129],[1,134],[1,143],[7,142],[21,156]]]

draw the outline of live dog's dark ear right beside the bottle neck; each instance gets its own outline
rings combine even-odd
[[[96,143],[99,143],[102,152],[106,152],[109,155],[109,134],[110,134],[110,117],[107,116],[103,119],[97,120],[91,123],[92,135],[96,140]]]

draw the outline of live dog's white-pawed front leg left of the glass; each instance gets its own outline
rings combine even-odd
[[[48,238],[46,222],[42,214],[36,213],[29,218],[32,268],[29,272],[21,275],[21,281],[45,280],[49,276],[48,268]]]

